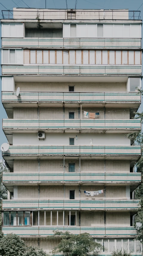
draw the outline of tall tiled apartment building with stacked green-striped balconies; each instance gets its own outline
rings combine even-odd
[[[141,148],[127,138],[141,129],[141,25],[128,10],[5,12],[4,234],[50,252],[54,230],[87,232],[100,255],[142,254],[133,227]]]

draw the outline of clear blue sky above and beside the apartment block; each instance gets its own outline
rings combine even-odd
[[[75,8],[76,0],[67,0],[67,8]],[[4,5],[4,6],[2,6]],[[45,8],[45,0],[0,0],[0,17],[2,18],[1,10],[13,10],[13,7],[27,8]],[[142,6],[141,6],[142,5]],[[141,7],[140,7],[141,6]],[[66,0],[46,0],[46,8],[66,8]],[[129,9],[129,11],[141,11],[141,20],[143,19],[143,0],[77,0],[77,9]],[[143,26],[142,26],[143,29]],[[142,31],[143,32],[143,31]],[[1,34],[1,26],[0,26]],[[1,59],[1,53],[0,53]],[[0,71],[1,72],[1,71]],[[1,80],[0,80],[1,87]],[[0,145],[7,142],[7,139],[2,131],[2,118],[7,118],[7,114],[1,104],[0,111]],[[0,152],[1,153],[1,152]],[[0,154],[1,159],[1,154]]]

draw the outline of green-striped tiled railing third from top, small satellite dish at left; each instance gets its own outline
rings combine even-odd
[[[140,103],[141,96],[136,92],[2,92],[2,102],[97,102],[97,103]]]

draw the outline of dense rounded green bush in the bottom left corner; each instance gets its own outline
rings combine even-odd
[[[4,236],[0,232],[0,255],[2,256],[46,256],[46,253],[40,248],[26,246],[24,241],[16,234],[7,234]]]

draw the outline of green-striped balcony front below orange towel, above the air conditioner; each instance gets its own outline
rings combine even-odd
[[[13,133],[16,131],[44,130],[51,132],[85,132],[87,130],[95,130],[102,133],[129,133],[141,130],[140,120],[114,120],[114,119],[3,119],[2,127],[5,133]]]

